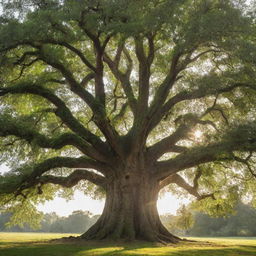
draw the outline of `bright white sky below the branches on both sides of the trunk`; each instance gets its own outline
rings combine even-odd
[[[0,174],[7,172],[5,165],[0,165]],[[182,204],[189,203],[187,199],[178,199],[171,193],[167,192],[158,199],[157,207],[159,214],[175,214]],[[83,210],[90,211],[92,214],[101,214],[104,207],[104,200],[95,200],[80,191],[76,191],[74,199],[67,201],[66,199],[56,197],[52,201],[38,205],[38,210],[44,213],[56,212],[60,216],[68,216],[73,211]]]

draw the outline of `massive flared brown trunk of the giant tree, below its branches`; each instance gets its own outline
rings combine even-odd
[[[108,185],[101,217],[81,237],[178,242],[180,239],[170,234],[160,221],[156,206],[158,192],[158,184],[142,173],[114,179]]]

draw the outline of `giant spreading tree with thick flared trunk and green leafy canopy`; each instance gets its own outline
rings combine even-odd
[[[176,242],[157,213],[163,187],[214,214],[255,197],[242,1],[2,2],[0,194],[14,222],[78,184],[106,195],[83,238]]]

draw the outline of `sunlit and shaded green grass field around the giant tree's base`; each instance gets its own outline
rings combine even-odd
[[[0,256],[256,256],[256,238],[193,238],[178,245],[50,241],[70,234],[0,233]]]

